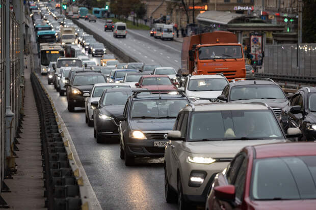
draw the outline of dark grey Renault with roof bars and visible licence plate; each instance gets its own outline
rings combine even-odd
[[[171,93],[134,91],[127,99],[118,129],[120,158],[125,165],[133,164],[135,156],[164,157],[167,133],[172,130],[179,110],[189,103],[183,92]]]

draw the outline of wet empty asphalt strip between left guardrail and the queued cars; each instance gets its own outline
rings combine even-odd
[[[67,126],[102,208],[176,209],[176,204],[165,201],[163,159],[136,159],[135,166],[126,167],[119,158],[118,141],[97,144],[93,138],[93,128],[85,124],[84,109],[76,108],[75,112],[70,113],[66,97],[59,96],[54,85],[47,84],[47,76],[40,75],[34,36],[32,41],[35,71]],[[125,42],[131,43],[128,39]],[[99,59],[93,58],[96,62]]]

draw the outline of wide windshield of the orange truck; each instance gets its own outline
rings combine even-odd
[[[242,58],[242,48],[236,45],[206,46],[199,48],[199,59]]]

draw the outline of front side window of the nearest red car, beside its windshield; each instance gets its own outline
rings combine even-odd
[[[244,189],[245,189],[245,179],[247,173],[248,159],[244,158],[243,163],[241,164],[236,180],[234,182],[235,186],[235,195],[240,201],[243,199]]]

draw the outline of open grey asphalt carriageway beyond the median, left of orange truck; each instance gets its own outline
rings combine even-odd
[[[104,20],[89,22],[79,20],[82,24],[104,35],[109,42],[124,49],[143,63],[159,63],[164,67],[173,67],[176,70],[181,66],[180,55],[182,43],[176,41],[163,41],[150,37],[148,31],[127,30],[126,39],[114,38],[111,31],[104,32]]]

